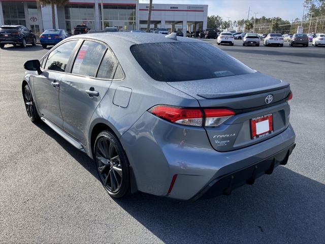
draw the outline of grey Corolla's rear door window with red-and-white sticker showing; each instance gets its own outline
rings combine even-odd
[[[105,50],[106,46],[101,43],[84,41],[78,51],[72,73],[95,77]]]

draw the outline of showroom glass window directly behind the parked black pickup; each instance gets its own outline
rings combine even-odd
[[[66,29],[73,32],[74,27],[85,24],[90,29],[94,29],[94,6],[91,4],[67,4],[64,6],[66,16]]]

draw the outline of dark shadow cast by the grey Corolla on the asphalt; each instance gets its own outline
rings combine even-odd
[[[44,123],[36,125],[99,180],[87,155]],[[324,199],[324,184],[278,166],[230,196],[184,202],[139,192],[113,200],[167,243],[323,243]]]

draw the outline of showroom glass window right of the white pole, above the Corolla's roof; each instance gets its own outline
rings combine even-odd
[[[101,10],[101,5],[99,5]],[[120,31],[132,31],[136,26],[135,5],[104,5],[105,27],[117,27]],[[100,11],[102,21],[102,12]]]

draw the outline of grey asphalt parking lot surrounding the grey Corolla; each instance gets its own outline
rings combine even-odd
[[[241,43],[218,47],[291,84],[297,146],[287,165],[254,185],[197,202],[110,198],[86,155],[27,117],[22,64],[47,50],[1,49],[0,242],[324,243],[325,47]]]

